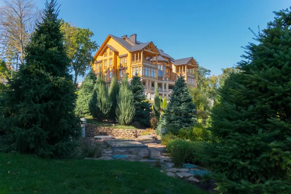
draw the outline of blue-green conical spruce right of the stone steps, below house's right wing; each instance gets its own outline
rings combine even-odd
[[[176,131],[194,126],[196,123],[196,106],[183,76],[179,76],[175,81],[170,102],[163,115],[167,127]]]

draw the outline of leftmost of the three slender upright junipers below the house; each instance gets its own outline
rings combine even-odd
[[[89,111],[94,119],[103,121],[107,118],[112,107],[112,102],[108,94],[106,82],[99,72],[99,76],[95,83],[92,97],[89,101]]]

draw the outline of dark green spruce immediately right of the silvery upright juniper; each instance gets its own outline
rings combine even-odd
[[[133,121],[139,122],[144,126],[149,126],[150,103],[146,101],[144,95],[144,86],[139,76],[133,76],[130,84],[130,90],[133,93],[135,116]]]

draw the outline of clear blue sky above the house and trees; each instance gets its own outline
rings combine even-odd
[[[36,0],[40,8],[44,0]],[[193,56],[200,66],[221,74],[241,60],[248,42],[290,0],[58,0],[60,17],[89,28],[101,45],[108,34],[137,34],[172,57]],[[82,78],[78,78],[81,81]]]

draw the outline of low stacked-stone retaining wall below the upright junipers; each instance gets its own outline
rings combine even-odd
[[[111,135],[113,137],[135,139],[141,136],[143,130],[137,129],[113,129],[109,127],[100,127],[93,124],[86,124],[85,137],[94,137],[97,135]],[[149,135],[155,135],[150,133]]]

